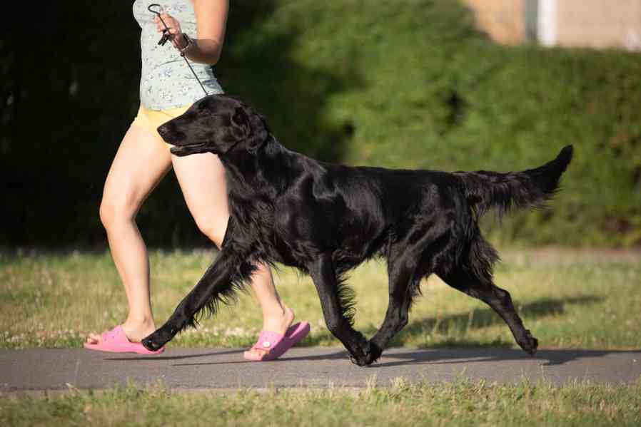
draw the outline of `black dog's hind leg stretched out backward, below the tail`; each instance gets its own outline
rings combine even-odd
[[[489,244],[483,241],[482,238],[480,238],[478,242],[473,242],[473,245],[491,249]],[[491,250],[492,256],[488,257],[488,259],[495,257],[493,249]],[[474,258],[473,252],[472,259]],[[471,265],[474,261],[468,261],[469,258],[465,259],[463,264],[458,264],[449,272],[443,274],[438,273],[438,275],[443,279],[443,282],[449,284],[451,287],[470,295],[470,297],[478,298],[492,307],[505,323],[508,324],[517,344],[528,354],[534,356],[538,341],[530,334],[530,331],[523,326],[523,321],[514,308],[510,293],[493,283],[491,266],[488,268],[486,265],[485,268],[475,269]]]

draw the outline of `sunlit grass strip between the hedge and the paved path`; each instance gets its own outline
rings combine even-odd
[[[215,254],[151,253],[152,301],[158,326],[201,277]],[[541,348],[641,348],[641,264],[599,253],[506,252],[496,283],[513,296]],[[637,258],[638,259],[638,258]],[[298,319],[312,324],[303,345],[340,345],[325,328],[316,291],[293,269],[276,272],[278,292]],[[387,307],[385,264],[364,264],[350,277],[357,294],[356,327],[373,334]],[[503,321],[485,304],[437,277],[423,282],[408,326],[394,346],[515,347]],[[89,331],[126,317],[126,299],[108,253],[0,253],[0,348],[79,347]],[[180,334],[171,346],[250,346],[261,326],[251,294],[215,319]]]

